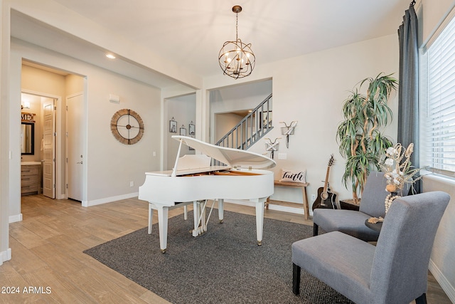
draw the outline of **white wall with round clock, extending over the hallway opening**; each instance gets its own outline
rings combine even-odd
[[[157,88],[111,73],[73,58],[38,48],[23,41],[16,41],[11,46],[11,106],[17,108],[20,115],[20,87],[22,58],[45,65],[71,71],[76,75],[85,75],[87,91],[85,117],[87,121],[87,162],[85,204],[100,204],[123,197],[136,196],[138,187],[144,182],[144,171],[159,169],[160,151],[160,108],[161,91]],[[19,69],[19,70],[18,70]],[[109,103],[109,94],[119,95],[119,104]],[[144,120],[144,136],[135,145],[123,145],[115,140],[110,131],[110,120],[114,112],[122,108],[132,109]],[[11,138],[15,137],[11,132]],[[14,150],[16,145],[12,145]],[[18,148],[17,148],[18,149]],[[156,157],[153,152],[156,151]],[[13,154],[19,154],[13,151]],[[20,160],[11,162],[12,177],[20,172]],[[17,167],[17,170],[14,170]],[[11,180],[11,179],[10,179]],[[134,182],[134,187],[129,187]],[[12,188],[20,189],[18,175],[11,180]],[[20,206],[14,201],[14,206]],[[11,208],[17,212],[17,208]]]

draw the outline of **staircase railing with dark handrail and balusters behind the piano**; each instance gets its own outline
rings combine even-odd
[[[272,94],[270,94],[215,145],[247,150],[272,129]]]

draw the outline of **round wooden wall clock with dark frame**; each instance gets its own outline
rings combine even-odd
[[[112,116],[111,131],[122,144],[134,145],[144,135],[144,122],[139,114],[133,110],[118,110]]]

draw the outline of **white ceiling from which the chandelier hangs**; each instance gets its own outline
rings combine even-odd
[[[410,0],[54,1],[201,77],[222,73],[218,53],[225,41],[235,40],[232,6],[236,4],[243,9],[238,16],[239,38],[252,43],[257,65],[397,33],[410,5]],[[33,24],[36,21],[27,21],[19,13],[12,16],[12,36],[41,45],[42,39],[36,38],[39,35]],[[28,33],[26,22],[32,23]],[[53,35],[65,36],[65,33],[40,26],[48,36],[52,36],[51,31]],[[85,43],[68,36],[65,40],[79,45]],[[53,49],[68,53],[68,48],[61,44],[65,43]],[[96,46],[84,47],[86,51],[87,47],[104,51]],[[80,59],[90,62],[87,58]],[[134,65],[128,58],[123,60]],[[153,73],[144,66],[137,68],[147,77]],[[163,75],[155,76],[163,80],[158,85],[154,82],[156,86],[173,82]]]

